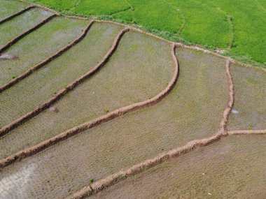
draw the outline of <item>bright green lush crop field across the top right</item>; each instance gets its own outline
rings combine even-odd
[[[66,15],[135,24],[266,67],[266,0],[29,0]]]

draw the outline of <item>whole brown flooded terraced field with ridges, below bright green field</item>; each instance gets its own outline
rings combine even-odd
[[[265,196],[265,70],[0,3],[0,198]]]

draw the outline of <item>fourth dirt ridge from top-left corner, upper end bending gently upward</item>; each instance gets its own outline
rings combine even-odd
[[[50,100],[47,101],[46,103],[43,103],[43,105],[39,106],[38,108],[36,108],[35,110],[33,110],[31,112],[28,112],[26,115],[16,119],[15,121],[11,122],[10,124],[7,124],[6,126],[3,126],[2,128],[0,128],[0,137],[3,135],[6,135],[6,133],[8,133],[10,130],[20,126],[20,124],[23,124],[25,121],[38,115],[43,110],[49,108],[50,105],[52,105],[53,103],[58,101],[59,98],[62,98],[62,96],[64,96],[66,93],[68,93],[73,88],[78,86],[78,84],[83,82],[85,79],[90,78],[92,75],[94,75],[94,73],[97,73],[97,71],[99,71],[99,69],[102,68],[102,66],[104,66],[104,64],[106,64],[106,62],[110,59],[113,52],[116,51],[116,48],[118,47],[118,44],[119,44],[121,38],[128,31],[130,31],[129,28],[125,28],[122,31],[120,31],[120,33],[118,34],[118,36],[114,40],[111,49],[106,53],[106,55],[104,55],[102,61],[100,61],[99,64],[97,64],[97,66],[94,66],[94,68],[92,68],[90,71],[88,71],[84,75],[80,76],[80,78],[74,80],[73,82],[68,84],[64,89],[61,89],[60,91],[58,91],[57,94],[55,94],[55,96],[50,98]]]

